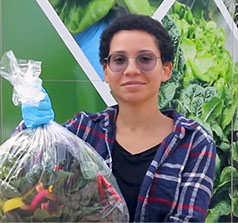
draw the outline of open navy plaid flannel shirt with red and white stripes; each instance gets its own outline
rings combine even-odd
[[[79,112],[64,126],[88,142],[112,168],[118,106],[95,114]],[[174,110],[174,130],[158,146],[144,177],[135,222],[204,222],[215,173],[216,147],[196,122]],[[138,142],[139,143],[139,142]]]

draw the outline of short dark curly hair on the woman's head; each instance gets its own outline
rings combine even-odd
[[[108,57],[113,36],[122,30],[140,30],[153,35],[161,53],[162,63],[172,62],[174,47],[167,30],[161,23],[146,15],[127,14],[115,19],[101,35],[99,46],[100,63]]]

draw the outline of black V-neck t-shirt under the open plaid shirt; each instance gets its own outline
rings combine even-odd
[[[112,173],[116,177],[118,186],[126,201],[130,222],[134,220],[140,187],[157,148],[158,145],[133,155],[119,145],[118,142],[114,144],[112,150]]]

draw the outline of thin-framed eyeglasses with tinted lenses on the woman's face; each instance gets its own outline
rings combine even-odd
[[[109,69],[113,73],[122,73],[129,64],[129,58],[135,58],[136,67],[140,71],[147,73],[154,70],[157,59],[161,57],[157,57],[150,52],[140,53],[136,57],[128,57],[122,53],[112,53],[104,59],[104,62],[107,63]]]

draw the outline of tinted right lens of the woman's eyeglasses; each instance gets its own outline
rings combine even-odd
[[[144,72],[152,71],[157,62],[157,57],[153,53],[142,53],[136,57],[137,67]]]

